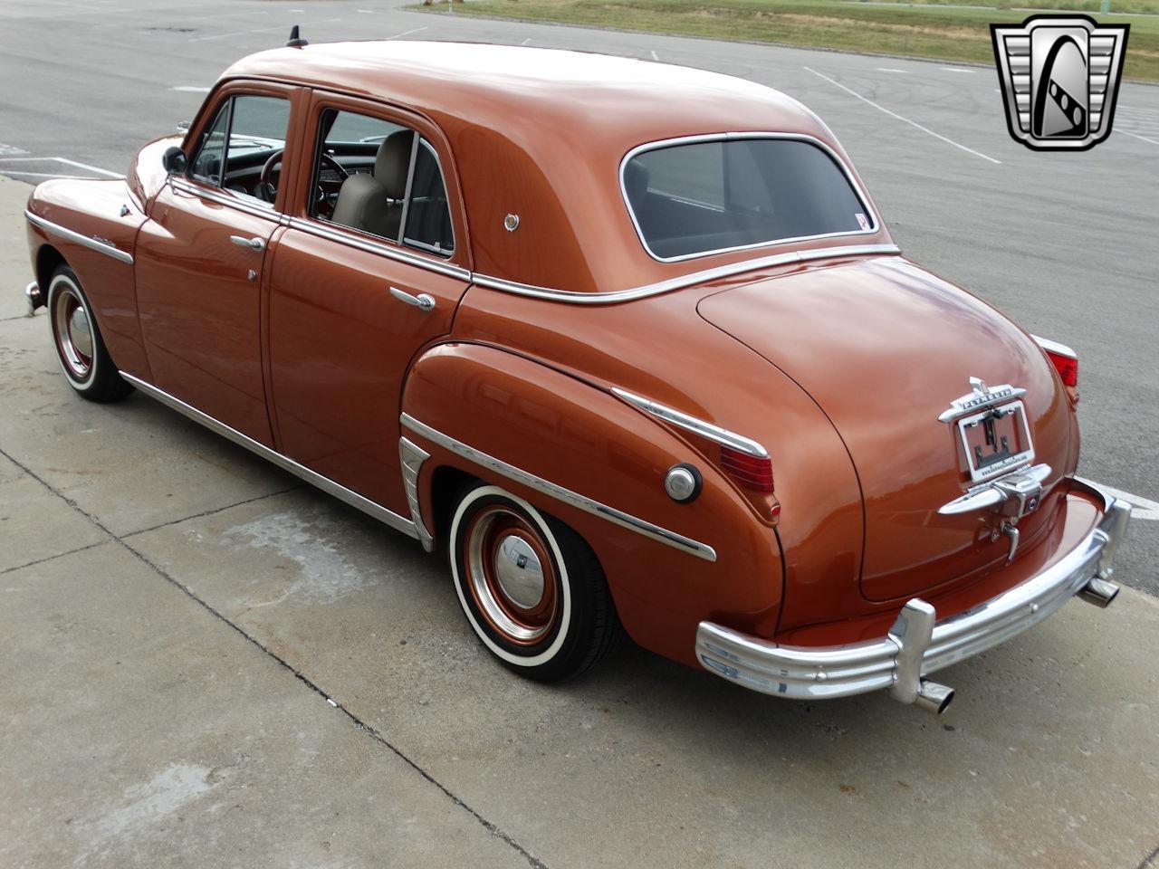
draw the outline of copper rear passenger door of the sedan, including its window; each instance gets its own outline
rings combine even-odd
[[[270,382],[280,451],[409,513],[399,463],[407,366],[451,330],[468,285],[466,229],[437,131],[315,96],[300,202],[270,271]],[[438,144],[436,144],[438,143]],[[449,180],[450,181],[450,180]]]

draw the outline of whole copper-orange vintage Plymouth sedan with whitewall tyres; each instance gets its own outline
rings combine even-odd
[[[445,552],[525,676],[626,631],[941,711],[927,674],[1117,592],[1129,507],[1074,479],[1074,353],[901,256],[766,87],[297,41],[27,218],[76,393],[136,388]]]

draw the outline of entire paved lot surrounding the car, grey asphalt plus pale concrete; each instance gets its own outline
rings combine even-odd
[[[906,254],[1079,349],[1081,473],[1138,507],[1116,579],[1139,591],[945,671],[941,720],[639,650],[542,687],[483,655],[415,542],[145,397],[75,399],[23,316],[22,182],[123,171],[292,21],[655,52],[800,96]],[[1059,160],[1008,139],[992,71],[372,0],[8,3],[0,49],[0,866],[1153,863],[1159,88],[1124,86],[1110,140]]]

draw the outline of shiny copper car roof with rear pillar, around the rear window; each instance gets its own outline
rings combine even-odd
[[[344,42],[252,54],[223,75],[234,78],[341,90],[428,117],[452,149],[474,270],[570,292],[620,291],[777,253],[653,260],[620,190],[620,162],[639,145],[773,131],[821,139],[845,159],[821,119],[778,90],[632,58],[479,43]],[[506,214],[519,216],[518,231],[503,228]]]

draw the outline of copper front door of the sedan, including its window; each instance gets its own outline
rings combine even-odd
[[[191,139],[187,174],[158,195],[137,241],[154,385],[271,447],[261,293],[293,95],[271,86],[223,93]]]

